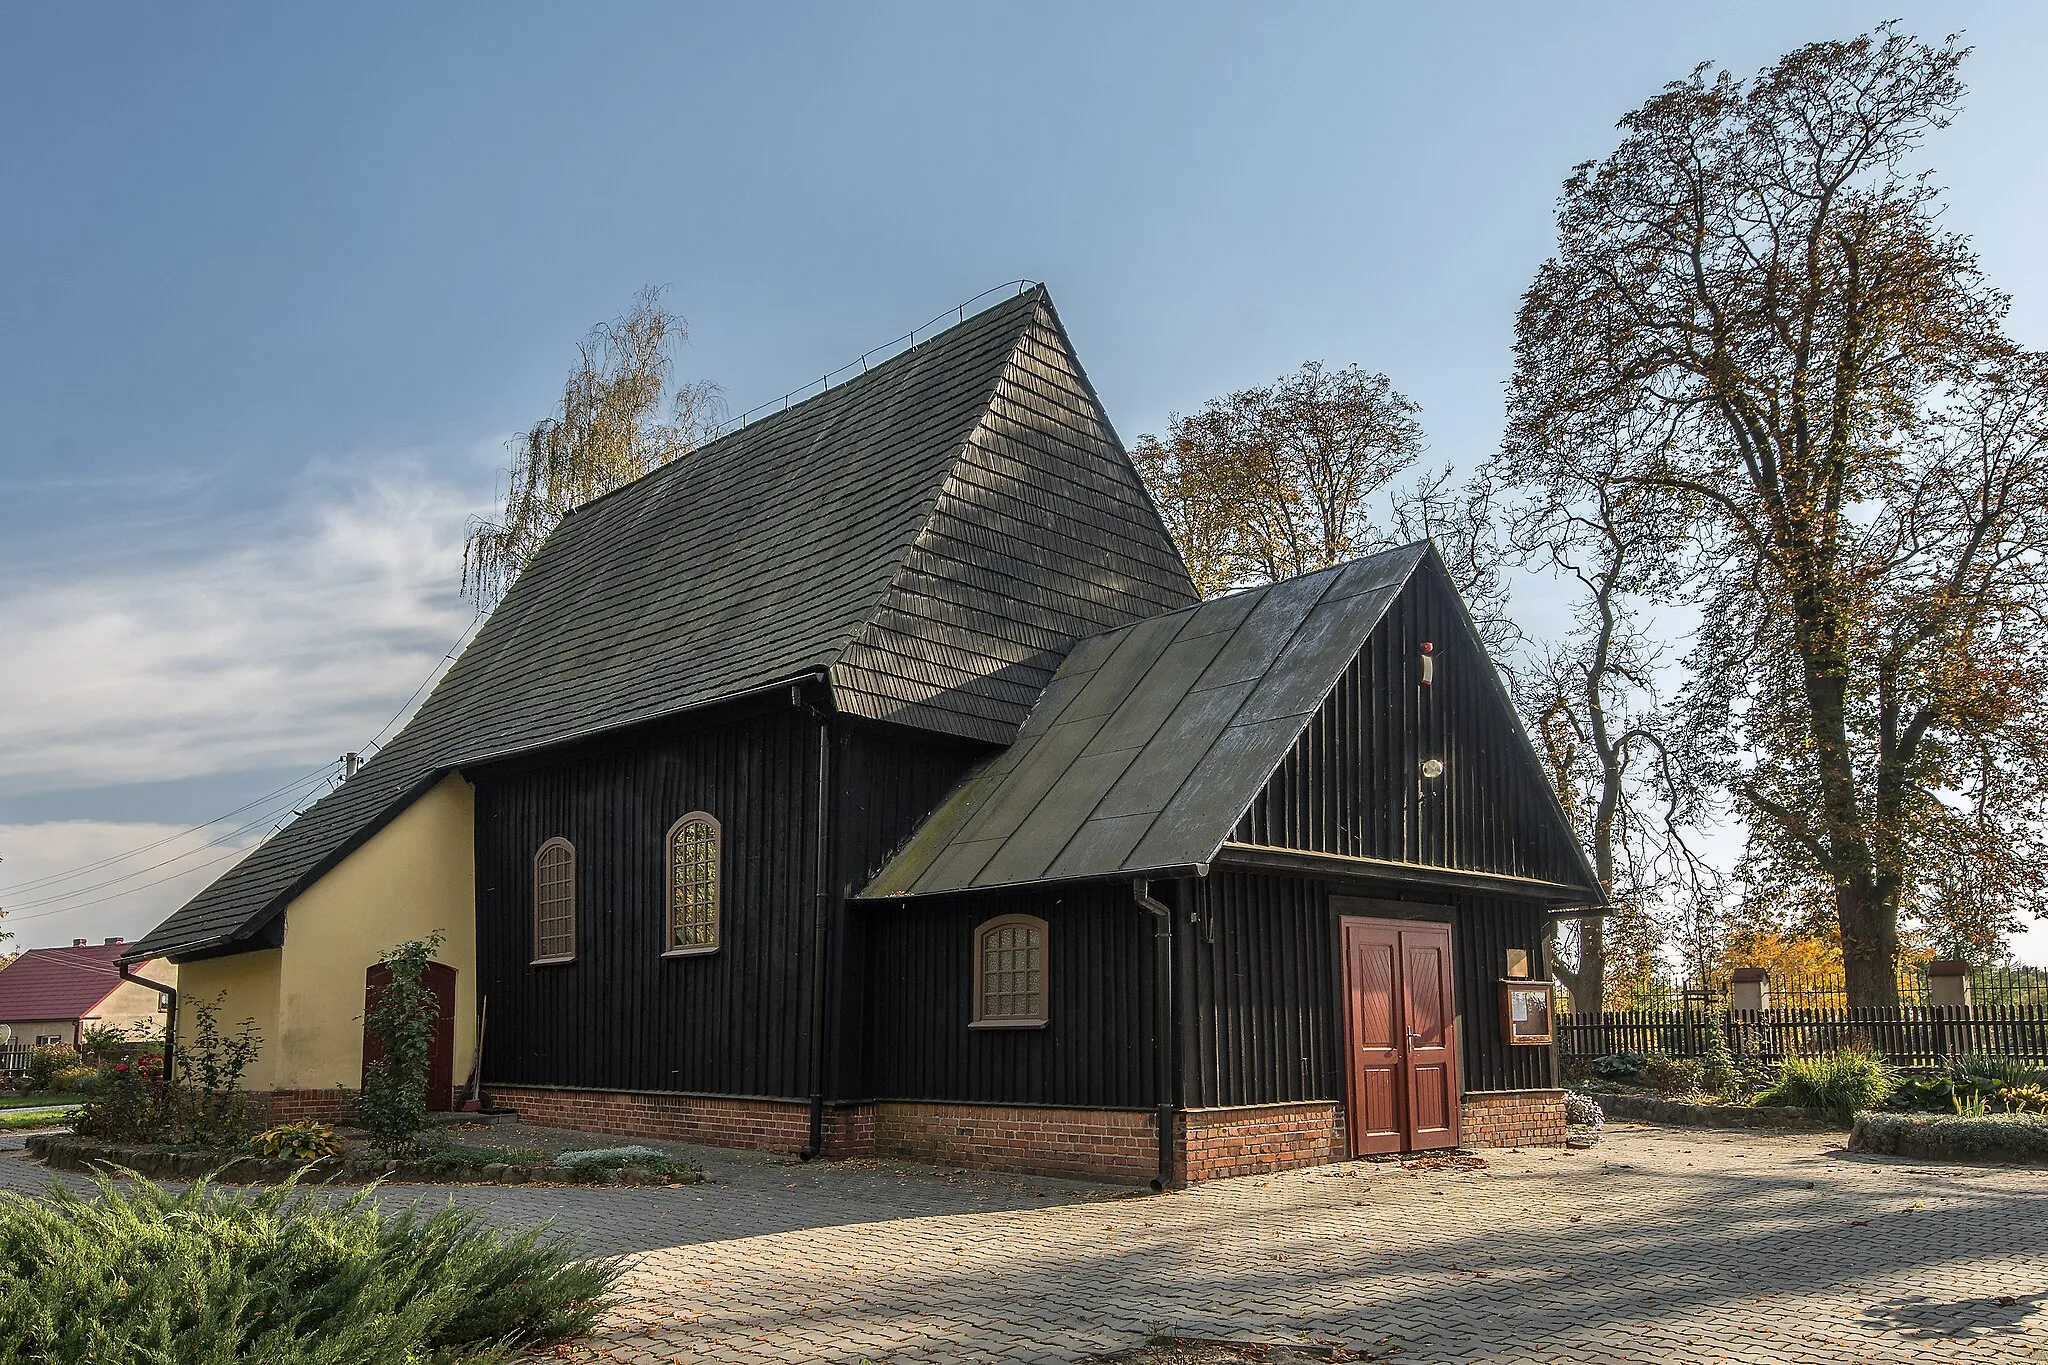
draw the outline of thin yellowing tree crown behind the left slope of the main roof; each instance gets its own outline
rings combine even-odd
[[[506,505],[463,544],[463,593],[492,606],[563,516],[696,448],[721,415],[717,385],[676,385],[688,323],[647,287],[578,346],[561,405],[512,442]]]

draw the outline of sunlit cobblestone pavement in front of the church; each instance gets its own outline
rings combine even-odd
[[[2048,1361],[2048,1171],[1862,1158],[1827,1134],[1614,1124],[1591,1152],[1176,1195],[676,1150],[711,1183],[393,1197],[633,1252],[578,1361],[1071,1361],[1151,1334],[1411,1365]],[[47,1179],[0,1154],[0,1187]]]

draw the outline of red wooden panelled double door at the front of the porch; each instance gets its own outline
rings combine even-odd
[[[1352,1154],[1458,1146],[1450,925],[1341,921]]]

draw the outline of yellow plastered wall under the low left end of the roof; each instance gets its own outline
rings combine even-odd
[[[455,968],[461,1085],[477,1046],[477,862],[475,792],[459,776],[444,778],[299,892],[285,907],[285,948],[184,964],[180,995],[211,999],[221,988],[209,984],[215,968],[231,1001],[223,1021],[258,1017],[264,1046],[248,1072],[250,1089],[352,1091],[362,1085],[365,972],[385,950],[436,929],[434,960]],[[242,974],[229,980],[229,968]],[[268,1015],[256,1009],[262,1001],[270,1003]],[[180,1036],[188,1038],[182,1023]]]

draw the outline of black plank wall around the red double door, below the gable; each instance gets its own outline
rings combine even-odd
[[[1192,886],[1182,917],[1186,999],[1184,1093],[1190,1107],[1343,1099],[1339,909],[1331,886],[1255,872],[1217,872]],[[1550,1085],[1548,1048],[1511,1048],[1499,1036],[1499,978],[1507,948],[1536,960],[1542,909],[1470,892],[1339,886],[1346,913],[1448,919],[1466,1091]]]

